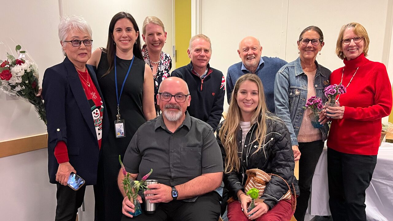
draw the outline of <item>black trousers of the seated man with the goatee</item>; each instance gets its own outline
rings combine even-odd
[[[193,203],[181,200],[160,203],[154,214],[146,214],[142,203],[142,214],[133,218],[123,215],[121,221],[217,221],[221,210],[220,198],[213,191],[199,196]]]

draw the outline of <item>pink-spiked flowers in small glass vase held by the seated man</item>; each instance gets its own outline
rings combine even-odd
[[[140,215],[142,213],[142,210],[141,210],[141,204],[139,203],[139,201],[137,199],[138,192],[139,192],[139,190],[150,190],[145,185],[145,181],[151,175],[151,173],[153,172],[153,169],[150,169],[150,172],[148,174],[146,174],[144,177],[142,177],[141,181],[132,180],[132,179],[130,179],[131,174],[125,170],[123,162],[121,162],[120,155],[119,155],[119,162],[120,162],[121,169],[122,169],[123,175],[124,175],[124,179],[123,179],[124,191],[129,199],[129,201],[131,201],[131,199],[132,199],[131,202],[135,206],[135,208],[134,208],[135,211],[133,213],[129,212],[129,214],[131,214],[133,216]]]

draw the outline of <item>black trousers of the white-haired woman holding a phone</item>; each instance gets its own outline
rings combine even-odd
[[[68,186],[56,185],[57,206],[55,221],[75,221],[78,208],[83,203],[86,186],[82,186],[75,191]]]

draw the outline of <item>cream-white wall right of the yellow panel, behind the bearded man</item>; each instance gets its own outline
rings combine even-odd
[[[211,66],[226,76],[228,67],[241,61],[237,49],[244,37],[257,37],[263,56],[290,62],[298,57],[296,42],[300,32],[307,26],[318,26],[323,31],[325,46],[317,61],[333,71],[343,66],[342,60],[334,54],[340,27],[358,22],[370,37],[368,58],[384,63],[392,81],[393,58],[389,57],[392,5],[391,0],[359,0],[356,5],[339,0],[202,0],[202,33],[212,42]],[[227,108],[225,102],[224,110]]]

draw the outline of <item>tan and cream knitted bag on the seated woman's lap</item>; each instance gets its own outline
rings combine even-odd
[[[291,200],[292,199],[292,192],[291,192],[291,188],[288,185],[288,182],[286,182],[285,179],[283,179],[282,177],[280,177],[279,175],[275,175],[272,173],[266,173],[261,169],[248,169],[246,170],[246,174],[247,174],[247,180],[246,180],[246,185],[244,186],[244,192],[248,192],[248,190],[250,190],[251,188],[256,188],[259,190],[259,197],[261,197],[263,195],[263,192],[265,191],[266,188],[266,183],[270,182],[270,180],[272,180],[272,176],[275,177],[279,177],[281,178],[286,186],[288,186],[288,192],[286,192],[281,199],[288,199]],[[295,192],[295,187],[292,184],[293,187],[293,194],[296,194]],[[235,199],[233,197],[231,197],[230,199],[228,199],[228,203],[231,203],[235,201]],[[291,200],[292,203],[292,211],[295,211],[296,208],[296,197],[294,197],[294,199]]]

